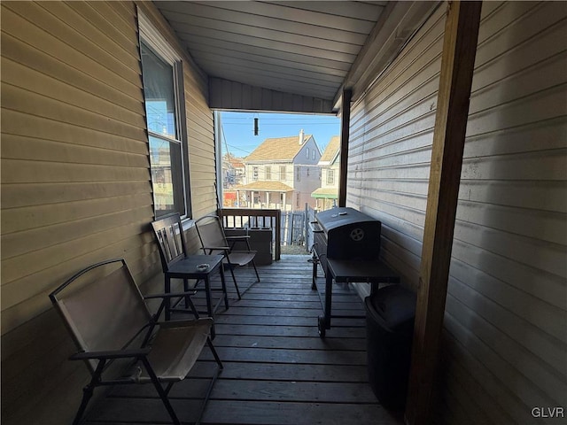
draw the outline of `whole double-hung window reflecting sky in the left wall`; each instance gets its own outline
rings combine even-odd
[[[186,138],[181,59],[143,16],[140,19],[140,53],[144,105],[150,142],[151,182],[156,218],[168,213],[188,215],[185,176]]]

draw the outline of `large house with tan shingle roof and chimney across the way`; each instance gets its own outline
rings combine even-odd
[[[315,207],[311,193],[321,182],[320,158],[315,138],[303,130],[299,135],[266,139],[245,158],[248,183],[236,187],[237,198],[250,208],[297,211],[306,204]]]

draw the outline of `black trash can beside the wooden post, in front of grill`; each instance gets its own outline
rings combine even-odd
[[[369,383],[385,408],[406,405],[416,295],[398,285],[365,298]]]

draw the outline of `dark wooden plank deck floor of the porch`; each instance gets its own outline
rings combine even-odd
[[[202,422],[256,425],[401,424],[369,387],[365,322],[334,319],[322,340],[322,306],[311,290],[307,256],[283,256],[259,267],[261,282],[216,317],[214,345],[224,369],[214,385]],[[240,269],[246,287],[253,272]],[[322,274],[320,274],[322,275]],[[233,288],[228,281],[229,290]],[[322,285],[320,279],[320,286]],[[333,291],[334,313],[361,315],[360,298],[347,286]],[[183,423],[192,423],[214,366],[206,349],[190,378],[175,384],[170,398]],[[136,388],[134,388],[136,387]],[[151,385],[115,387],[90,410],[88,424],[168,423]]]

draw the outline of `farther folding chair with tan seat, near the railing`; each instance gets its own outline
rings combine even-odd
[[[201,249],[205,251],[206,254],[221,253],[224,255],[224,263],[229,267],[230,274],[232,274],[232,280],[237,289],[238,299],[242,298],[240,290],[238,289],[237,278],[234,275],[235,267],[252,264],[256,278],[258,279],[256,282],[260,282],[260,275],[254,264],[256,251],[250,249],[250,243],[248,242],[250,236],[226,236],[222,228],[221,219],[216,215],[201,217],[195,221],[195,227],[197,228],[198,237],[201,241]],[[245,243],[246,250],[235,250],[234,247],[236,243]],[[249,290],[250,287],[246,290]],[[245,293],[246,290],[243,293]]]

